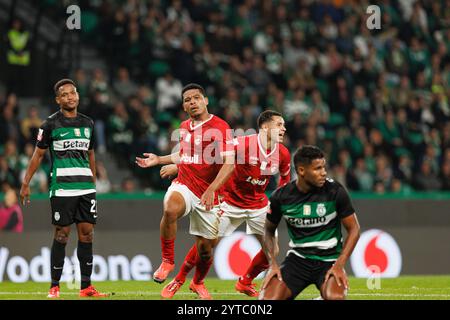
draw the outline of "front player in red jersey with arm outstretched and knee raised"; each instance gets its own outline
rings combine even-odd
[[[190,119],[180,125],[179,152],[167,156],[145,153],[145,158],[136,157],[136,163],[142,168],[175,163],[179,170],[164,197],[160,225],[162,263],[153,279],[162,283],[174,269],[177,220],[190,214],[189,232],[196,236],[200,257],[190,289],[209,299],[203,279],[211,267],[212,249],[219,233],[217,190],[234,169],[232,134],[224,120],[208,112],[208,98],[200,85],[186,85],[182,98]]]

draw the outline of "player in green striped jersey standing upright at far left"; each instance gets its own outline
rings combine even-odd
[[[72,80],[58,81],[54,90],[60,110],[49,116],[39,129],[36,148],[22,181],[20,199],[23,205],[29,203],[30,180],[49,149],[52,161],[50,203],[55,231],[50,254],[51,285],[48,298],[59,297],[65,248],[73,223],[78,232],[80,296],[104,297],[105,294],[99,293],[91,285],[92,241],[97,222],[94,122],[77,111],[79,96]]]

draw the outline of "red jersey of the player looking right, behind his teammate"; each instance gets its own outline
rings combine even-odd
[[[265,191],[270,177],[276,173],[290,176],[289,150],[277,143],[273,150],[266,153],[258,134],[238,137],[233,141],[236,166],[223,189],[224,201],[243,209],[264,208],[268,204]]]

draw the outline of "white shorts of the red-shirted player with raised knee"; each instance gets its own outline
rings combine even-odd
[[[186,211],[183,217],[190,214],[189,233],[205,239],[217,239],[219,235],[219,206],[211,211],[206,211],[200,203],[200,199],[184,184],[172,182],[164,196],[164,202],[172,192],[178,192],[183,196]]]

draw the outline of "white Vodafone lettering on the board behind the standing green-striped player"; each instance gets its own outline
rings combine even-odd
[[[92,280],[117,281],[151,279],[152,263],[144,255],[136,255],[131,259],[124,255],[94,255]],[[80,280],[80,268],[76,250],[71,257],[64,260],[61,282]],[[22,256],[12,255],[6,247],[0,247],[0,282],[50,282],[50,249],[42,247],[40,254],[29,262]]]

